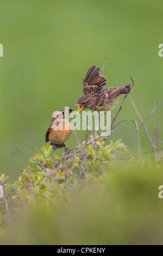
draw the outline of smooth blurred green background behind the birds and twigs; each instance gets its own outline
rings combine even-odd
[[[141,117],[152,111],[155,96],[162,100],[163,58],[158,46],[163,42],[162,1],[3,1],[1,2],[0,58],[1,172],[14,181],[26,165],[22,157],[9,153],[18,148],[33,155],[36,145],[45,143],[52,113],[74,104],[83,95],[83,78],[90,66],[103,67],[107,87],[121,87],[134,78],[132,99]],[[119,102],[120,105],[120,102]],[[112,112],[116,114],[118,106]],[[129,99],[117,121],[137,119]],[[156,122],[162,124],[162,107]],[[139,121],[140,124],[140,121]],[[110,139],[127,142],[133,124],[113,133]],[[153,136],[153,120],[147,125]],[[161,134],[161,130],[159,132]],[[80,141],[85,132],[77,132]],[[161,138],[160,138],[161,139]],[[141,132],[142,152],[151,145]],[[74,136],[66,143],[77,145]],[[129,146],[137,152],[136,138]],[[62,151],[59,152],[61,154]]]

